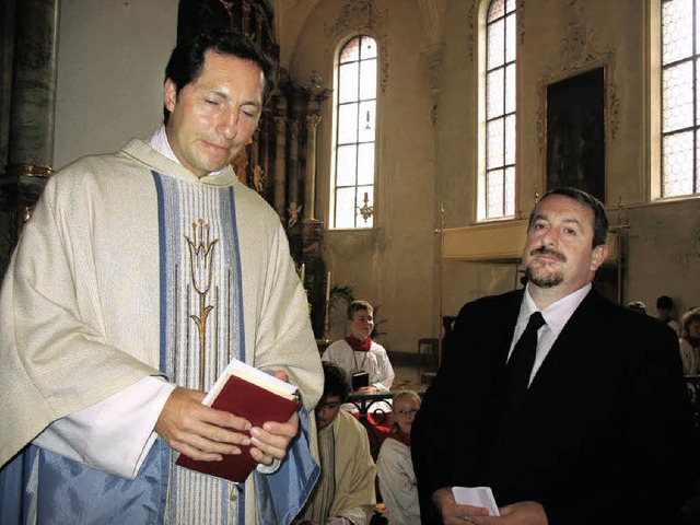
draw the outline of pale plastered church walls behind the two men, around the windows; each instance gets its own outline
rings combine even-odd
[[[284,5],[280,57],[294,82],[311,72],[332,83],[332,57],[342,36],[331,28],[353,2],[298,0]],[[447,0],[434,40],[427,35],[418,2],[376,0],[382,18],[376,34],[388,49],[378,116],[378,228],[328,232],[325,256],[336,284],[352,285],[359,298],[381,305],[387,331],[380,342],[415,352],[417,340],[441,332],[436,256],[440,205],[447,228],[476,218],[478,47],[476,1]],[[648,101],[651,16],[641,0],[528,0],[524,3],[518,112],[516,209],[526,217],[533,194],[544,190],[542,96],[548,82],[587,67],[586,57],[609,65],[606,192],[611,223],[626,207],[628,240],[625,302],[640,300],[653,313],[655,298],[674,296],[679,312],[700,304],[700,223],[697,199],[651,202],[657,166],[650,161]],[[299,13],[302,16],[298,16]],[[289,26],[284,19],[292,16]],[[113,151],[133,135],[150,133],[162,119],[163,69],[175,43],[177,2],[71,0],[61,2],[55,167],[93,152]],[[336,27],[342,24],[336,25]],[[573,35],[573,36],[572,36]],[[576,36],[579,35],[579,36]],[[584,36],[581,36],[584,35]],[[520,40],[518,40],[520,42]],[[431,77],[421,51],[443,45],[438,74],[436,120],[431,120]],[[653,58],[653,57],[652,57]],[[327,221],[330,108],[318,128],[316,215]],[[650,173],[652,175],[650,175]],[[515,265],[445,261],[443,313],[455,315],[464,302],[511,290]],[[345,305],[341,310],[345,310]],[[335,312],[331,337],[345,332],[345,313]]]

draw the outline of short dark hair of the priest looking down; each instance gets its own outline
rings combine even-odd
[[[201,74],[208,50],[248,60],[259,67],[265,77],[262,104],[267,103],[272,91],[272,60],[250,38],[224,26],[202,27],[177,43],[165,67],[165,80],[173,81],[177,94]],[[171,112],[163,106],[164,124],[170,116]]]

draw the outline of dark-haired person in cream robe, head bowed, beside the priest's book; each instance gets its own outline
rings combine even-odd
[[[376,466],[364,427],[340,405],[350,394],[342,370],[325,362],[324,395],[316,405],[320,476],[302,512],[292,522],[366,525],[376,503]]]

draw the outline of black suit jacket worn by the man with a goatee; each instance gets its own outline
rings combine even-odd
[[[441,487],[534,500],[549,525],[673,523],[692,490],[690,401],[673,330],[592,290],[508,425],[503,370],[524,290],[466,304],[412,428],[423,523]]]

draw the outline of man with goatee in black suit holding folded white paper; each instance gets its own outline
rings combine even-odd
[[[593,289],[607,230],[594,197],[548,191],[529,218],[526,288],[459,312],[411,433],[424,524],[674,523],[696,468],[678,342]],[[518,401],[510,355],[535,312]],[[452,487],[478,486],[501,517],[455,503]]]

